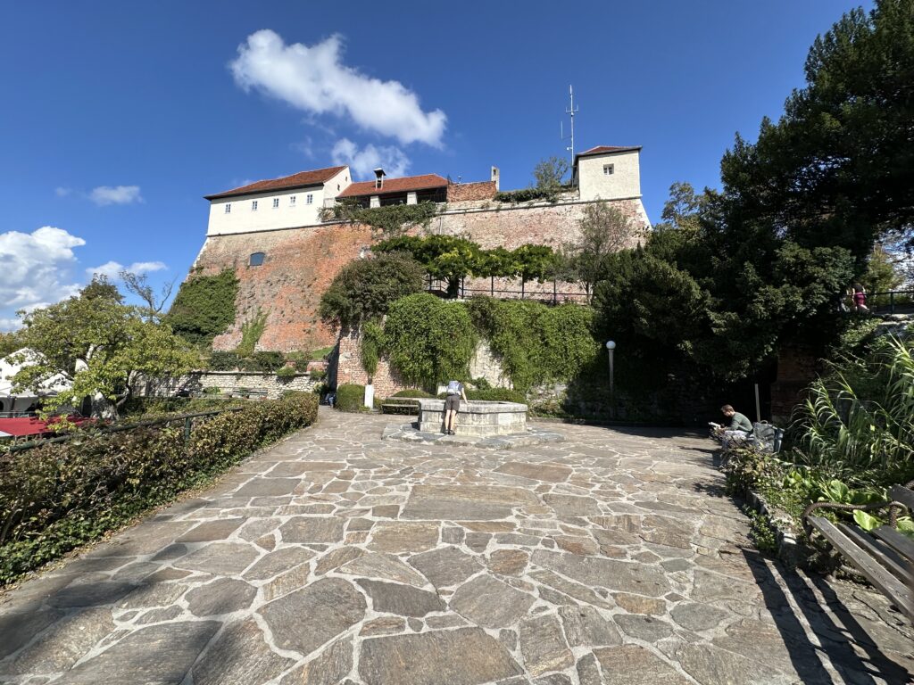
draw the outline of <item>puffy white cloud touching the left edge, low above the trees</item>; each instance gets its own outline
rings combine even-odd
[[[80,286],[69,283],[69,268],[76,262],[73,248],[86,241],[62,228],[41,227],[32,233],[0,233],[0,315],[19,309],[33,310],[75,295]],[[0,318],[0,328],[10,330],[18,321]]]

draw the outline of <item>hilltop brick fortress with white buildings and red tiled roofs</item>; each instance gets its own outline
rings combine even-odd
[[[354,183],[348,166],[334,166],[206,195],[207,237],[190,278],[234,269],[239,279],[235,324],[214,347],[234,348],[241,323],[259,309],[268,314],[259,349],[291,352],[335,342],[335,333],[317,318],[321,294],[339,269],[366,254],[373,237],[366,225],[322,221],[322,207],[343,201],[368,208],[433,202],[439,213],[430,233],[469,237],[483,248],[529,243],[560,248],[579,239],[583,209],[595,202],[611,202],[636,225],[650,228],[641,199],[640,156],[640,146],[604,145],[575,155],[571,186],[554,201],[496,198],[494,166],[488,181],[465,184],[438,174],[388,178],[383,169],[375,171],[374,180]]]

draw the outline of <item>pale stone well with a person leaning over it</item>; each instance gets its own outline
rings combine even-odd
[[[444,427],[444,400],[420,399],[419,429],[441,433]],[[459,436],[507,436],[526,431],[526,405],[516,402],[461,402],[454,429]]]

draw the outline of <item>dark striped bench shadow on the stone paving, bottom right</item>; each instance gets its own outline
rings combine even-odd
[[[888,659],[876,646],[875,641],[866,634],[856,618],[841,604],[834,590],[822,578],[810,578],[810,581],[822,593],[825,603],[840,620],[835,623],[833,617],[824,611],[821,603],[806,585],[802,578],[786,571],[778,562],[772,564],[778,569],[785,593],[778,583],[778,578],[765,564],[761,554],[743,550],[746,562],[755,576],[765,606],[770,607],[771,617],[781,633],[784,646],[791,657],[793,668],[802,682],[833,682],[831,674],[825,669],[823,659],[834,667],[847,683],[867,685],[877,682],[908,682],[910,674],[907,669]],[[806,619],[813,635],[818,638],[821,647],[814,645],[808,638],[807,628],[802,625],[801,616],[788,601],[788,593],[796,606],[800,607],[801,616]],[[777,607],[782,607],[779,610]],[[860,655],[854,646],[866,652]],[[878,680],[877,680],[878,679]]]

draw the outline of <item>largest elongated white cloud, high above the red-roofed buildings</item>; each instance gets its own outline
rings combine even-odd
[[[261,90],[310,114],[348,114],[361,128],[441,147],[447,116],[423,111],[419,97],[399,81],[382,81],[341,62],[343,38],[335,35],[314,46],[286,45],[263,29],[251,34],[229,64],[244,90]]]

